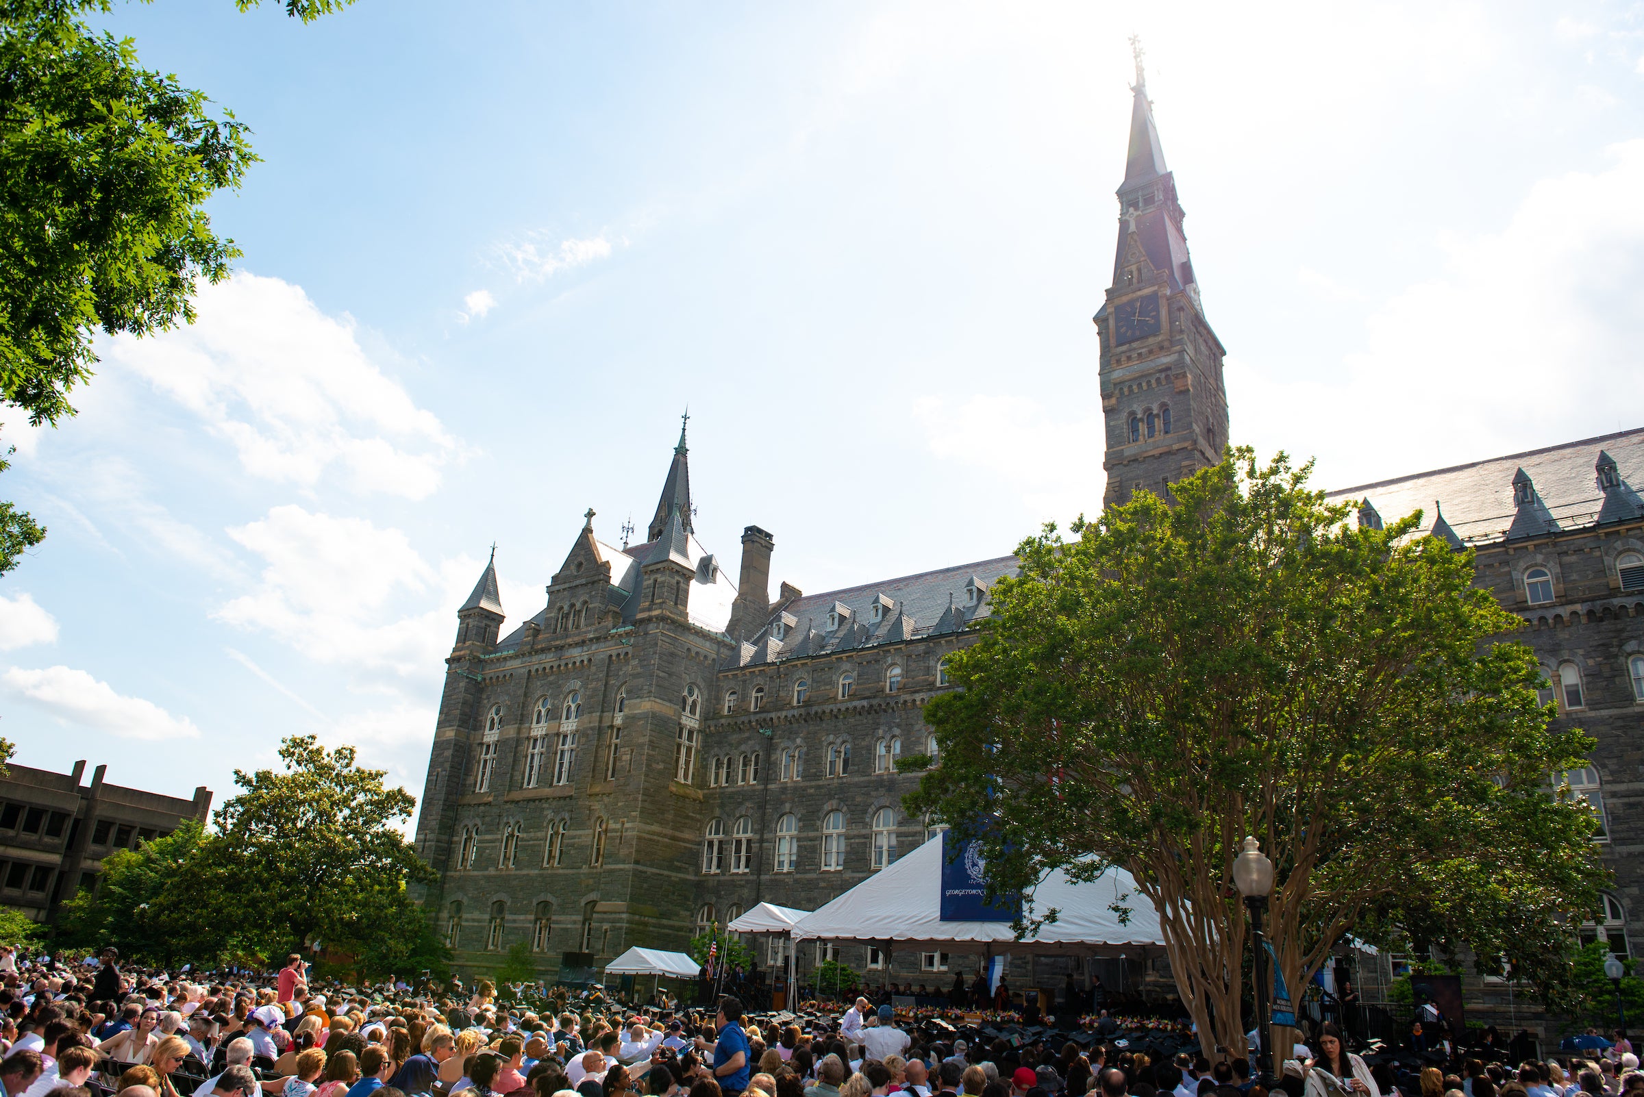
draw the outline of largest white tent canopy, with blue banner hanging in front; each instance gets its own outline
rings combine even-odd
[[[1129,908],[1126,923],[1110,910]],[[1121,951],[1164,944],[1159,915],[1123,869],[1108,869],[1088,884],[1055,870],[1031,893],[1032,913],[1057,910],[1054,923],[1016,941],[1008,921],[942,921],[942,836],[935,834],[906,857],[875,872],[838,898],[806,915],[794,926],[796,941],[863,941],[931,944],[947,952],[981,952],[990,946],[1026,948],[1042,954]]]

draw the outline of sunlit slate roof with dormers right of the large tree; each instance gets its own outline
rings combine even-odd
[[[1614,465],[1600,486],[1600,458]],[[1527,481],[1527,499],[1514,501],[1514,481]],[[1481,544],[1644,516],[1644,427],[1565,442],[1527,453],[1437,468],[1330,491],[1332,503],[1369,499],[1388,522],[1422,511],[1422,532],[1455,534],[1452,544]],[[1443,507],[1442,524],[1434,503]]]

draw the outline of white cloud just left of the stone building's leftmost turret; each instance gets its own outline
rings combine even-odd
[[[386,677],[388,688],[439,672],[455,639],[455,606],[482,570],[467,557],[434,567],[398,529],[299,506],[275,507],[229,535],[265,567],[256,590],[215,617],[376,685]]]

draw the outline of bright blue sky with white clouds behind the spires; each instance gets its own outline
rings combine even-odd
[[[539,609],[687,404],[773,583],[1093,512],[1133,33],[1235,440],[1343,486],[1644,424],[1644,7],[1345,7],[117,5],[265,163],[199,324],[0,429],[51,530],[0,734],[220,798],[314,731],[421,792],[487,547]]]

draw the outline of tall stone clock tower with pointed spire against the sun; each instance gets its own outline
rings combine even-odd
[[[1141,48],[1131,44],[1136,100],[1118,189],[1120,245],[1095,315],[1108,435],[1103,506],[1128,501],[1138,488],[1169,498],[1167,484],[1220,461],[1228,443],[1225,351],[1198,299],[1175,176],[1164,166]]]

